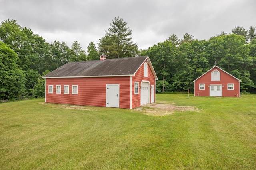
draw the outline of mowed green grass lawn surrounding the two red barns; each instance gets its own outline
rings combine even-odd
[[[200,111],[0,104],[0,169],[256,169],[256,95],[157,94]]]

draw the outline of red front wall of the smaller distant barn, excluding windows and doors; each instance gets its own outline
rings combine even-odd
[[[222,85],[222,96],[224,97],[240,97],[240,86],[236,78],[230,76],[223,70],[217,68],[220,72],[220,81],[211,81],[211,73],[216,67],[212,68],[194,83],[195,96],[210,96],[210,85]],[[228,90],[228,84],[234,83],[234,90]],[[204,84],[204,90],[199,89],[199,84]],[[223,87],[224,86],[224,87]]]

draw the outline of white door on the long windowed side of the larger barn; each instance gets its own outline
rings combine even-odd
[[[119,108],[119,84],[106,84],[106,107]]]

